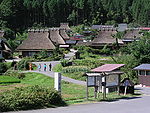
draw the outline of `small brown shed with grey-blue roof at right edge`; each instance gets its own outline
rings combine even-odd
[[[150,86],[150,64],[141,64],[134,70],[138,71],[139,84]]]

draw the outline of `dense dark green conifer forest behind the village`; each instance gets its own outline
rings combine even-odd
[[[149,26],[150,0],[0,0],[0,27],[115,24]]]

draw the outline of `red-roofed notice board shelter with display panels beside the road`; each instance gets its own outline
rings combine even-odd
[[[124,64],[104,64],[100,67],[92,69],[87,75],[87,99],[88,99],[88,87],[94,87],[95,98],[97,93],[102,92],[103,98],[106,97],[106,92],[110,90],[117,90],[119,94],[120,88],[120,75],[123,72],[120,68]]]

